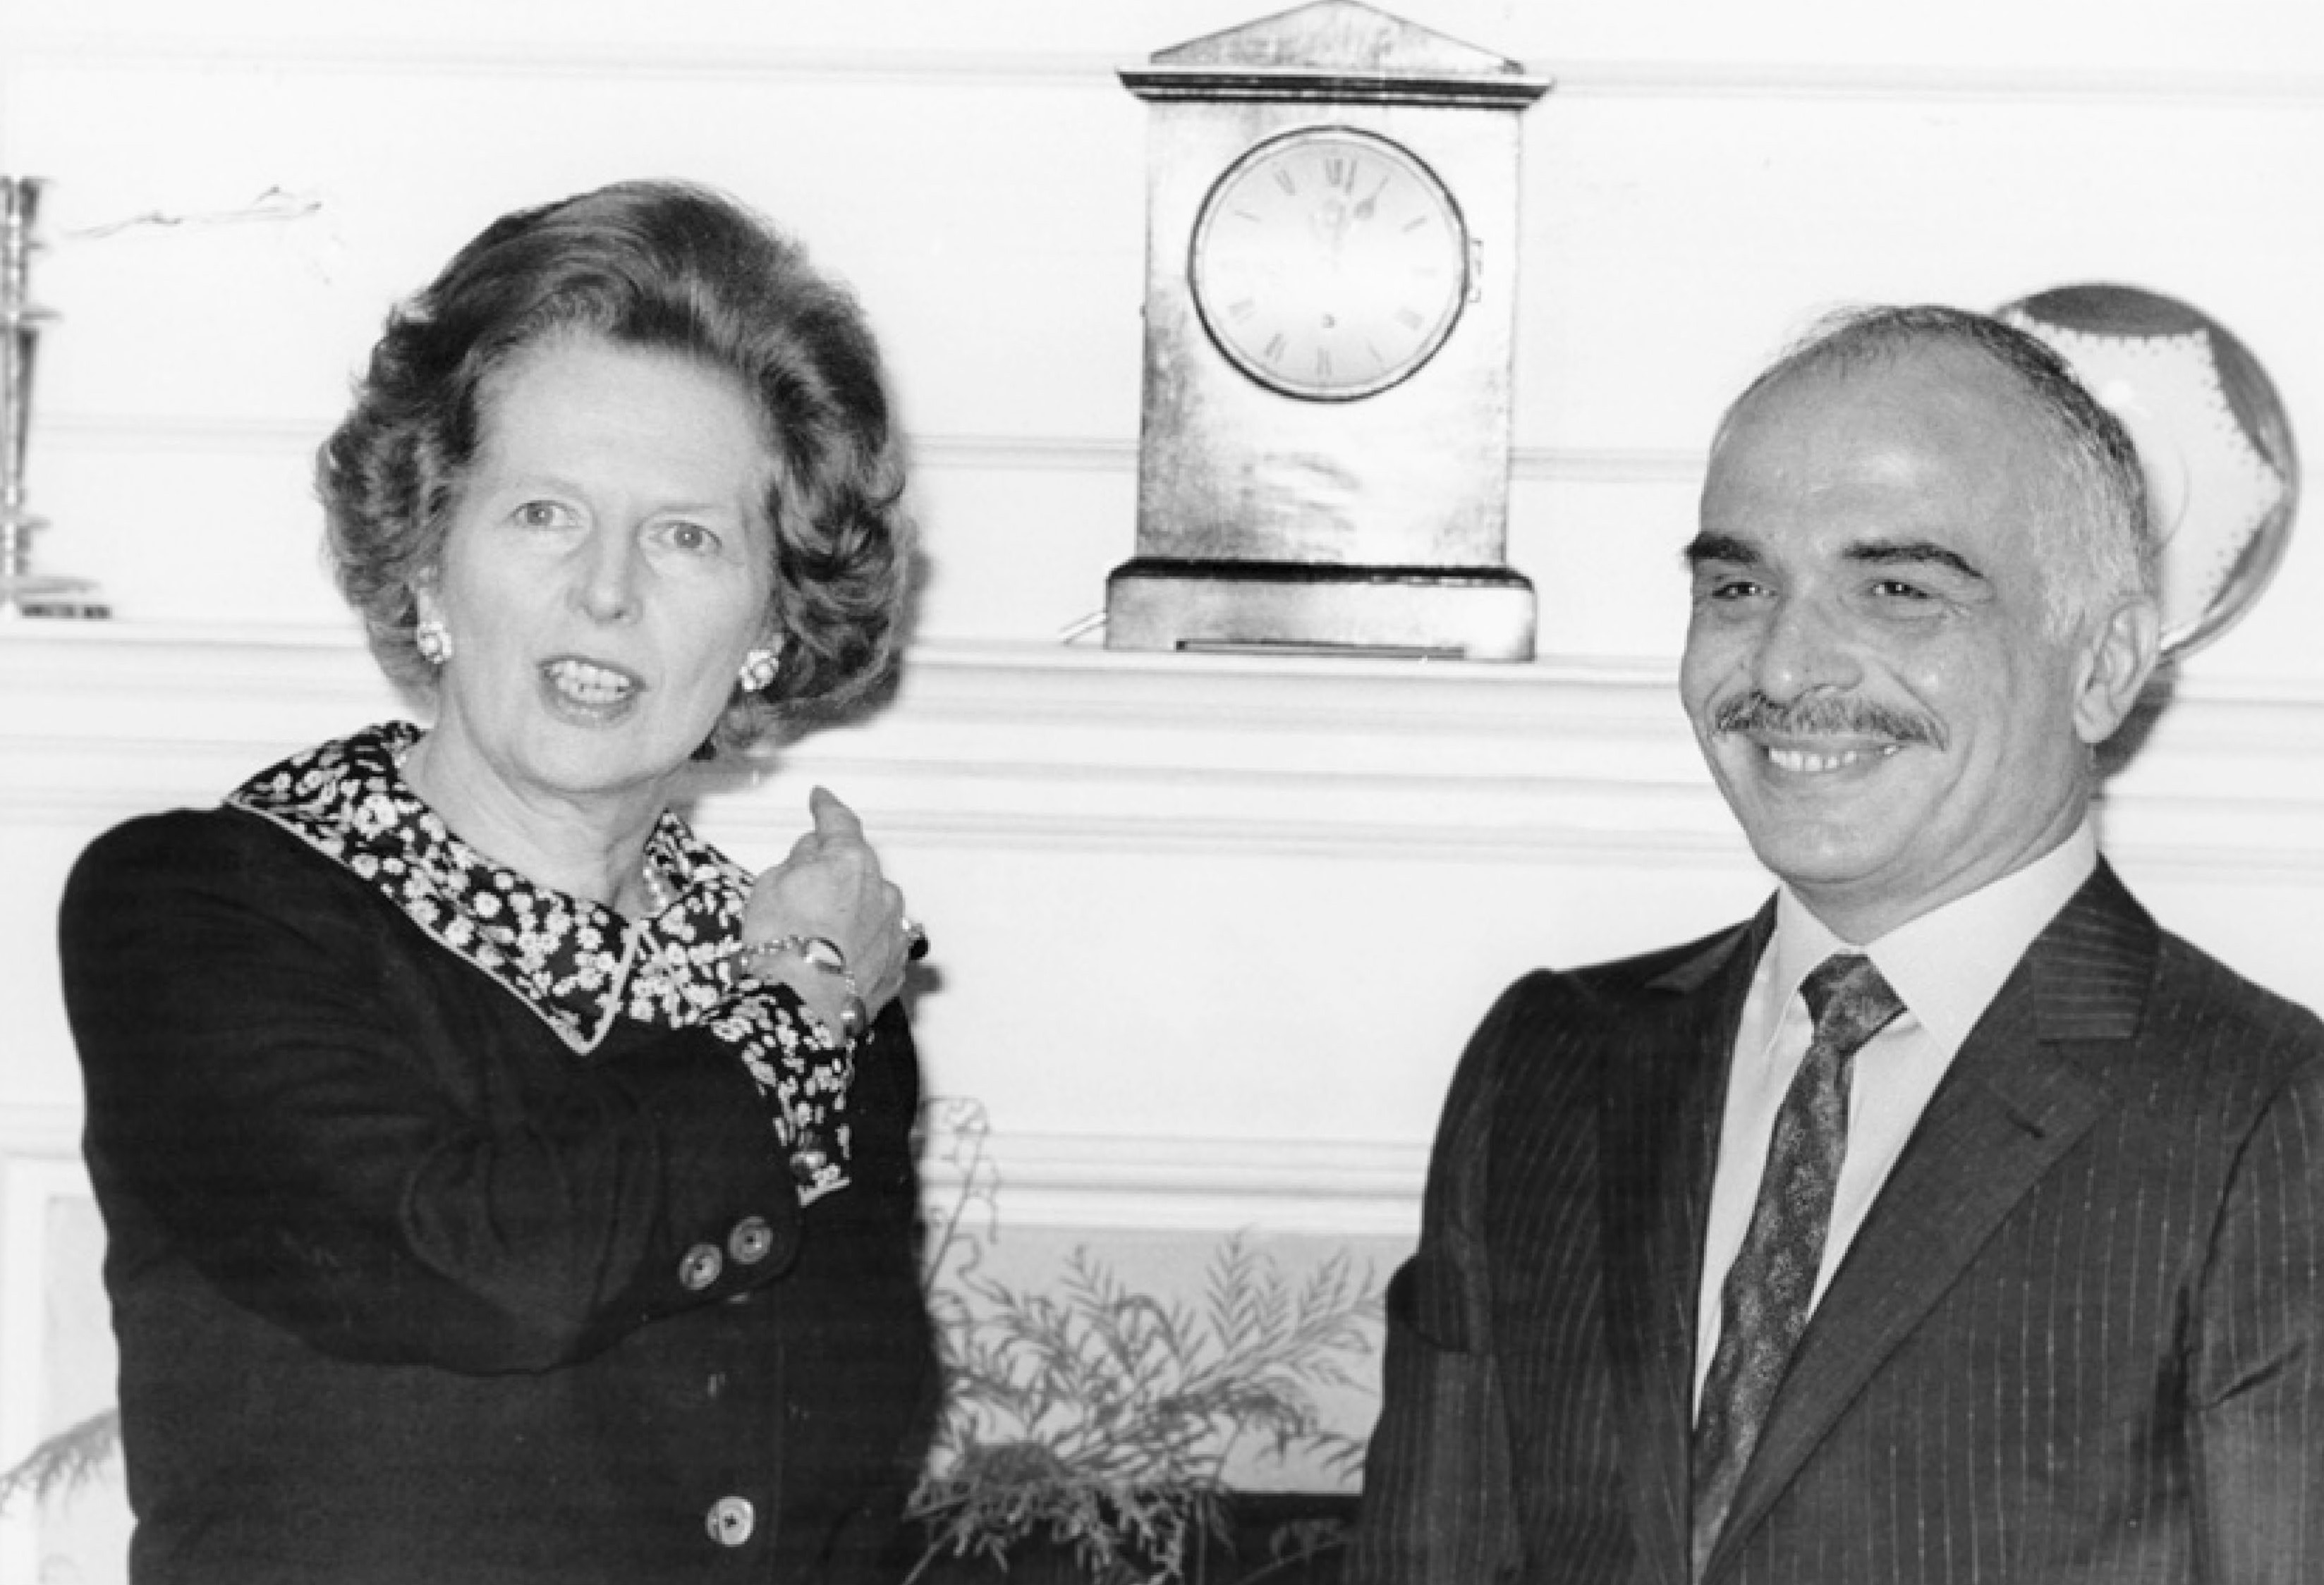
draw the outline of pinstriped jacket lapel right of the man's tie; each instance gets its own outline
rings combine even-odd
[[[2154,951],[2152,920],[2101,865],[2003,983],[1801,1336],[1713,1571],[2010,1209],[2106,1111],[2110,1097],[2066,1041],[2138,1030]]]

